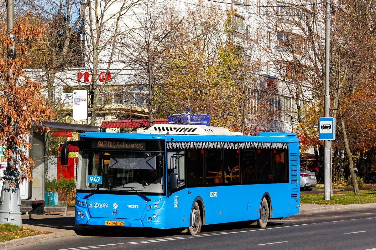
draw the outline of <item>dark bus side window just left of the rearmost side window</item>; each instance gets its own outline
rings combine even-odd
[[[259,183],[273,183],[271,149],[257,150],[257,169]]]

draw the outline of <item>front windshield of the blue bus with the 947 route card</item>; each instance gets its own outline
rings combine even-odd
[[[164,192],[164,155],[135,151],[80,151],[77,189]]]

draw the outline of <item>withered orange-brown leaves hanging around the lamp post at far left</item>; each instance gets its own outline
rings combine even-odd
[[[24,178],[32,179],[30,168],[34,163],[23,153],[31,146],[28,142],[30,130],[35,126],[39,132],[47,131],[47,127],[41,126],[42,121],[53,117],[52,109],[45,105],[40,94],[41,83],[32,81],[23,71],[32,60],[29,51],[42,39],[44,30],[43,25],[27,17],[18,18],[10,32],[4,26],[0,30],[0,142],[6,147],[8,166],[18,172],[19,182]],[[9,38],[9,34],[14,36],[14,40]],[[18,53],[15,60],[7,55],[8,45],[12,43],[15,43]]]

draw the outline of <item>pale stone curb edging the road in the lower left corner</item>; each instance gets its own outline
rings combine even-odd
[[[56,233],[51,233],[51,234],[34,235],[34,236],[29,236],[29,237],[2,242],[0,243],[0,249],[6,249],[8,247],[20,246],[20,245],[24,245],[28,243],[33,243],[33,242],[57,238],[57,237],[68,237],[68,236],[76,236],[76,235],[77,235],[76,232],[74,232],[73,230],[72,231],[66,230],[66,231],[61,231],[61,232],[56,232]]]

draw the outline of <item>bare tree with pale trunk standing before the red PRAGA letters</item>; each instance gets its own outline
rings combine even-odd
[[[128,64],[120,58],[120,40],[130,32],[125,23],[130,22],[131,19],[126,14],[140,3],[141,0],[87,2],[87,12],[84,16],[85,34],[87,34],[85,68],[91,71],[91,80],[88,83],[91,125],[96,124],[98,111],[103,110],[106,104],[112,105],[111,100],[109,101],[111,103],[106,100],[106,88],[114,86],[108,93],[109,96],[113,96],[119,93],[117,85],[123,84],[123,70]],[[110,70],[112,70],[111,78],[108,75]],[[100,98],[102,94],[105,100]]]

